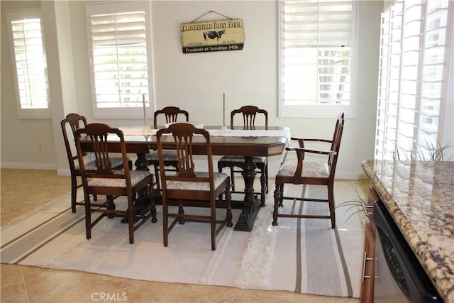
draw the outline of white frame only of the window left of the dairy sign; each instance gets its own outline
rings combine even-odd
[[[92,48],[92,31],[90,24],[90,16],[98,14],[113,14],[143,11],[145,13],[145,32],[146,32],[146,48],[147,48],[147,72],[148,72],[148,93],[145,96],[145,112],[148,117],[154,112],[154,93],[153,93],[153,56],[152,56],[152,31],[151,31],[151,11],[150,1],[127,1],[127,2],[103,2],[96,4],[87,4],[87,38],[90,60],[90,79],[92,84],[92,106],[93,116],[95,119],[137,119],[144,117],[144,109],[142,99],[140,104],[135,107],[100,107],[96,102],[96,89],[94,82],[94,64],[93,64],[93,48]],[[118,102],[119,103],[119,102]],[[139,106],[140,105],[140,106]]]

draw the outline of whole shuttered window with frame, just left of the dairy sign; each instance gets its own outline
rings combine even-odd
[[[153,113],[149,1],[86,7],[94,117]]]

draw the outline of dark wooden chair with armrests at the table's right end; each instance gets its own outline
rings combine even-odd
[[[279,168],[276,175],[275,189],[275,208],[273,211],[272,225],[277,226],[277,218],[315,218],[315,219],[331,219],[331,228],[336,227],[336,214],[334,211],[334,175],[336,172],[336,164],[338,162],[339,148],[341,146],[341,138],[343,132],[344,114],[336,121],[334,128],[333,139],[318,139],[318,138],[291,138],[299,143],[299,147],[288,147],[287,151],[297,153],[297,159],[286,158]],[[305,143],[328,143],[331,144],[329,150],[314,150],[306,148]],[[305,154],[322,155],[326,157],[326,161],[321,160],[305,160]],[[310,184],[310,185],[325,185],[328,190],[328,199],[313,199],[311,197],[287,197],[284,196],[284,184]],[[325,202],[328,203],[329,214],[284,214],[279,213],[279,207],[283,206],[284,199],[309,201],[309,202]]]

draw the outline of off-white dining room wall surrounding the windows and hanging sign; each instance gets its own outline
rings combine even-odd
[[[61,172],[67,168],[67,163],[60,148],[55,148],[61,140],[57,138],[59,136],[61,138],[60,129],[55,125],[64,117],[55,114],[53,124],[50,121],[17,119],[9,50],[6,54],[9,46],[4,43],[7,41],[4,39],[7,37],[4,26],[4,7],[13,6],[11,2],[13,1],[1,1],[3,74],[1,77],[1,166],[47,167]],[[75,76],[75,92],[71,93],[72,101],[77,104],[73,107],[77,108],[79,114],[87,116],[89,121],[94,121],[84,4],[84,1],[70,1],[67,15],[67,20],[70,20]],[[45,5],[49,5],[47,1]],[[360,163],[362,160],[373,158],[377,57],[380,11],[383,3],[382,1],[358,1],[358,6],[356,114],[355,117],[345,121],[336,173],[338,178],[362,176]],[[183,54],[180,44],[180,24],[193,21],[211,10],[231,18],[243,19],[245,30],[243,50]],[[62,10],[60,9],[58,13],[62,13]],[[222,121],[222,94],[225,92],[227,111],[241,105],[255,104],[267,109],[270,114],[270,125],[291,127],[292,136],[331,138],[334,119],[282,119],[277,116],[276,1],[153,1],[152,16],[156,108],[167,105],[180,106],[189,111],[192,121],[201,121],[205,125],[219,125]],[[201,20],[216,18],[219,18],[216,13],[210,13]],[[46,38],[49,39],[49,37]],[[56,42],[57,37],[52,38]],[[60,38],[58,41],[62,40],[65,39]],[[65,41],[65,43],[68,42]],[[55,56],[48,58],[50,65],[60,66],[60,63]],[[6,69],[5,65],[10,65],[9,69]],[[4,82],[8,83],[8,86],[4,85]],[[72,89],[71,83],[64,83],[62,86]],[[62,94],[65,95],[65,93]],[[52,102],[58,102],[58,100],[52,100]],[[109,123],[111,126],[142,123],[133,119],[99,121]],[[18,135],[13,135],[6,128],[17,129]],[[31,133],[30,128],[35,133]],[[55,136],[55,143],[53,136]],[[45,142],[45,156],[36,151],[35,145],[38,140]],[[279,158],[273,158],[270,175],[275,174],[278,164]]]

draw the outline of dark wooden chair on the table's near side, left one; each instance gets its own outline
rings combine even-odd
[[[94,167],[87,170],[84,163],[82,149],[82,136],[84,136],[94,153]],[[111,168],[109,156],[108,136],[112,136],[119,142],[121,147],[121,159],[123,170]],[[77,159],[79,160],[82,186],[85,199],[85,229],[87,239],[92,238],[92,228],[101,221],[104,216],[110,219],[114,217],[128,218],[129,243],[134,243],[134,231],[142,226],[152,214],[155,214],[153,195],[153,175],[148,171],[130,170],[123,132],[118,128],[111,128],[104,123],[89,123],[84,128],[79,128],[74,133],[76,141]],[[114,140],[115,140],[114,139]],[[135,214],[135,196],[140,192],[143,197],[144,191],[150,199],[150,210]],[[106,203],[92,203],[90,195],[105,195]],[[116,209],[114,197],[127,197],[126,210]],[[116,200],[118,201],[118,200]],[[92,221],[92,214],[101,213]]]

